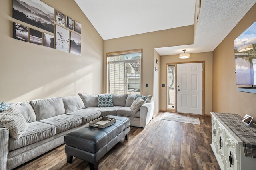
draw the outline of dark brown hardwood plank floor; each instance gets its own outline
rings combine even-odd
[[[146,128],[131,127],[129,139],[116,144],[99,162],[100,170],[220,170],[210,147],[211,117],[201,125],[160,119],[158,113]],[[176,114],[176,113],[170,113]],[[184,114],[182,114],[184,115]],[[89,170],[88,162],[66,162],[65,144],[16,168],[17,170]]]

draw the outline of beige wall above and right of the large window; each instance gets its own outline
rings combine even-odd
[[[154,48],[170,47],[170,46],[176,46],[176,45],[188,45],[192,43],[193,43],[193,25],[184,26],[180,28],[173,28],[169,30],[138,34],[134,36],[104,40],[104,54],[110,53],[110,52],[116,52],[116,51],[143,49],[142,51],[142,55],[143,55],[142,56],[143,57],[142,58],[142,74],[143,74],[142,75],[142,95],[153,95],[155,105],[156,105],[155,108],[157,108],[157,106],[159,105],[159,100],[157,97],[154,96],[154,91],[156,93],[157,88],[159,87],[159,83],[154,82],[154,78],[157,79],[156,77],[157,75],[154,74],[155,73],[154,63],[155,63],[155,59],[158,56],[155,55]],[[104,59],[104,62],[105,62],[105,59]],[[105,75],[105,67],[104,67],[104,75]],[[106,79],[104,79],[104,82],[106,82]],[[148,87],[146,87],[146,83],[148,83]],[[156,114],[157,112],[158,111],[154,109],[154,114]]]

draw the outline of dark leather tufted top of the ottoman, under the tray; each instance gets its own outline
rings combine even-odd
[[[126,117],[112,116],[116,122],[106,128],[97,128],[86,125],[65,135],[65,144],[81,150],[95,153],[108,144],[114,137],[130,126],[130,119]]]

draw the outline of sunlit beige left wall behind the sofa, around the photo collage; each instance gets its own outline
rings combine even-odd
[[[77,95],[79,92],[102,93],[102,38],[74,0],[42,2],[82,24],[82,55],[13,39],[13,22],[46,31],[13,19],[12,0],[1,1],[0,102]]]

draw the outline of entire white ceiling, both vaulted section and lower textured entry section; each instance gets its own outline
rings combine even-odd
[[[75,0],[103,40],[194,24],[196,0]],[[194,44],[159,55],[213,51],[256,0],[202,0]]]

